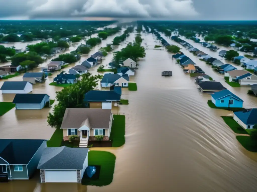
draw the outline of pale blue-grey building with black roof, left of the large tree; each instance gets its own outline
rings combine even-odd
[[[50,96],[48,94],[21,94],[18,93],[13,99],[16,109],[42,109],[45,105],[50,107]]]

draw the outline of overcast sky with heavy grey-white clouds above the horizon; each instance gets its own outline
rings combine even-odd
[[[257,20],[257,0],[7,0],[0,19]]]

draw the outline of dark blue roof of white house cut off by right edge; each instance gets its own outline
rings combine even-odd
[[[246,125],[256,125],[257,124],[257,109],[248,109],[247,111],[238,111],[234,114]]]

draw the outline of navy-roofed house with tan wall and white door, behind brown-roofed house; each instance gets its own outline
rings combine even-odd
[[[90,90],[84,96],[89,108],[112,109],[121,101],[121,95],[115,91]]]

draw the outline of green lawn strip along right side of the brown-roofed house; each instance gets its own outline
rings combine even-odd
[[[125,143],[125,115],[113,115],[110,139],[112,147],[121,147]]]

